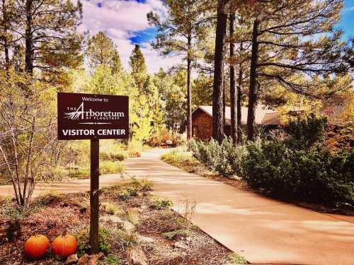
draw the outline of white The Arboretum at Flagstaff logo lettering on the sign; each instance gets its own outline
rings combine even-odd
[[[125,117],[124,112],[102,112],[92,109],[85,111],[84,102],[79,107],[67,107],[67,112],[64,112],[64,115],[66,119],[70,120],[92,121],[80,122],[80,124],[111,124],[112,121]]]

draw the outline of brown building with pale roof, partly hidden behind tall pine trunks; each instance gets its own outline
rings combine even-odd
[[[247,124],[247,107],[241,107],[241,124]],[[269,110],[263,105],[256,107],[256,125],[270,129],[280,124],[278,114],[274,110]],[[212,138],[212,106],[199,106],[192,113],[193,138],[208,141]],[[225,108],[225,134],[230,135],[231,131],[231,110]]]

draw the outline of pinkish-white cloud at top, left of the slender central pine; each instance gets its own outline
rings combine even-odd
[[[101,3],[101,8],[97,5]],[[166,17],[168,10],[160,0],[147,0],[144,4],[137,1],[124,0],[91,0],[83,2],[84,21],[80,30],[89,30],[90,35],[103,31],[118,46],[122,64],[129,67],[129,57],[134,49],[130,37],[134,31],[147,30],[151,26],[147,22],[147,13],[154,11],[161,18]],[[152,49],[149,43],[142,44],[142,52],[147,61],[150,73],[158,71],[160,67],[169,68],[173,64],[181,63],[181,58],[163,58]]]

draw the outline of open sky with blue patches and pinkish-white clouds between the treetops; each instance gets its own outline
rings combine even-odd
[[[107,34],[118,46],[125,68],[135,44],[142,46],[150,73],[181,63],[180,57],[160,57],[150,45],[157,32],[147,23],[147,13],[154,11],[166,18],[168,10],[161,0],[84,0],[83,6],[81,30],[89,30],[91,35],[100,30]],[[344,0],[337,28],[345,30],[343,40],[354,37],[354,0]]]

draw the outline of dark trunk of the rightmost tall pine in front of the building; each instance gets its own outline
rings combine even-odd
[[[252,54],[251,54],[251,67],[249,77],[249,112],[247,115],[247,139],[253,141],[254,139],[254,120],[257,105],[257,64],[258,64],[258,28],[259,20],[255,19],[253,22],[252,33]]]

